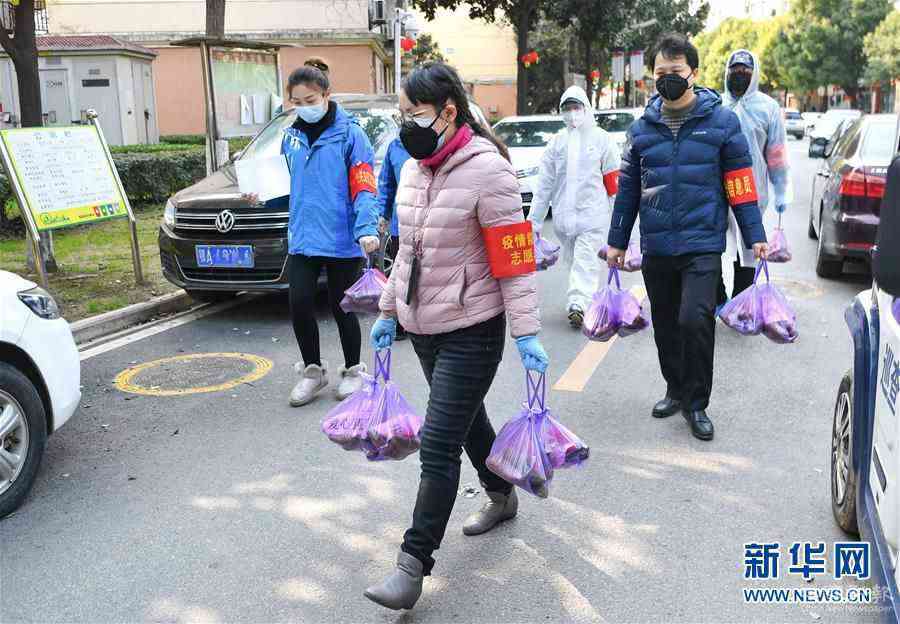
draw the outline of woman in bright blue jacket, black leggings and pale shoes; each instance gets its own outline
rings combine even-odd
[[[378,249],[378,213],[372,144],[362,128],[330,99],[328,74],[315,64],[288,78],[288,99],[297,120],[285,130],[281,151],[291,172],[288,254],[294,334],[303,357],[293,407],[306,405],[328,385],[328,364],[319,352],[315,294],[324,268],[328,301],[341,337],[344,366],[336,397],[362,384],[359,320],[340,307],[359,278],[365,254]]]

